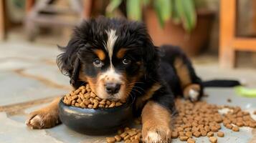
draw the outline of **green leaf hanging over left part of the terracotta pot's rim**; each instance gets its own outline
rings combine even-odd
[[[171,18],[172,6],[171,0],[157,0],[153,1],[153,6],[158,16],[158,21],[163,27],[164,22]]]

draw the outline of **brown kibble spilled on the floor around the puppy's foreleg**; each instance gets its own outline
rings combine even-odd
[[[181,141],[195,143],[193,137],[209,137],[209,142],[216,143],[217,137],[224,137],[224,132],[219,131],[221,124],[227,129],[239,132],[240,127],[256,127],[256,121],[252,119],[249,112],[244,112],[240,107],[222,106],[218,107],[207,102],[191,103],[176,99],[176,109],[178,117],[174,117],[174,127],[171,138],[179,138]],[[229,112],[221,114],[220,110],[228,109]],[[141,120],[136,119],[136,124]],[[129,134],[128,131],[133,131]],[[214,137],[214,134],[217,137]],[[141,142],[141,132],[139,129],[125,128],[118,131],[115,137],[108,137],[107,142],[136,143]]]

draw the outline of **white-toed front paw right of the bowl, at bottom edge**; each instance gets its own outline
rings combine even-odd
[[[169,143],[171,142],[171,129],[169,127],[151,127],[142,129],[143,142]]]

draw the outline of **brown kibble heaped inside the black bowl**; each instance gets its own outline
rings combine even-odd
[[[89,84],[79,87],[77,90],[65,95],[63,102],[74,107],[93,109],[119,107],[123,104],[123,102],[113,102],[107,99],[100,99],[92,92]]]

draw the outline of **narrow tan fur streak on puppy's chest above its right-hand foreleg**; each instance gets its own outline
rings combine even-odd
[[[146,94],[144,94],[142,97],[138,97],[137,102],[136,102],[136,108],[138,109],[138,108],[142,107],[142,105],[148,99],[151,99],[151,97],[153,96],[154,92],[156,92],[160,88],[161,88],[161,84],[159,84],[158,82],[153,84],[153,86],[150,89],[148,89]]]

